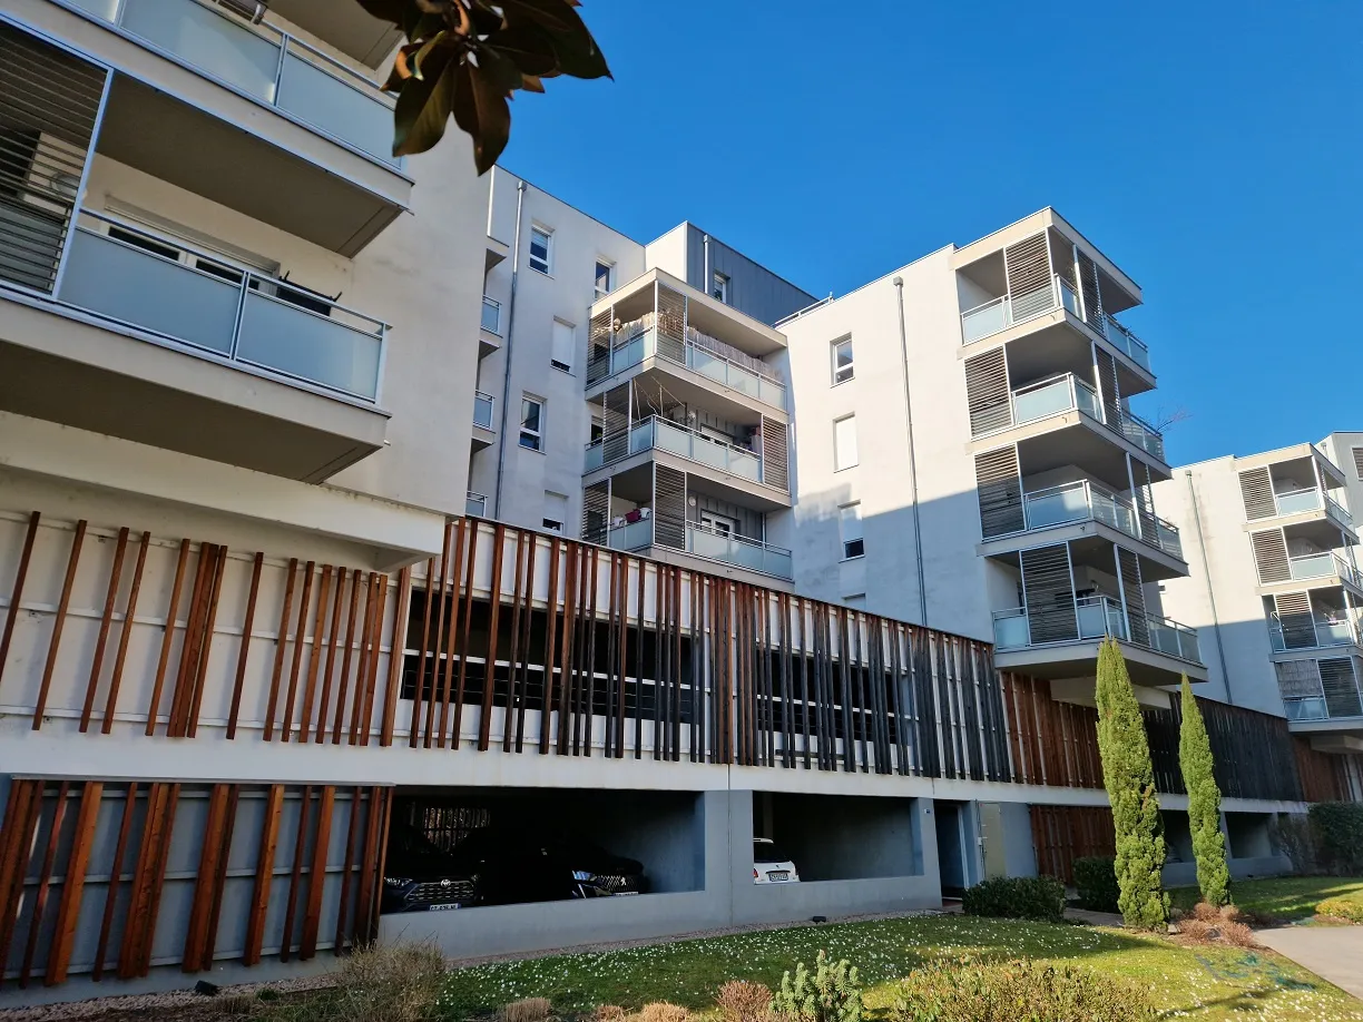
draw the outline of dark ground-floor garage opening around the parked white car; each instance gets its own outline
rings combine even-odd
[[[800,880],[923,872],[916,799],[786,792],[755,792],[752,799],[754,837],[770,839]],[[762,867],[755,869],[761,875]]]

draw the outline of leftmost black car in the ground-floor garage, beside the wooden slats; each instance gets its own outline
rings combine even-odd
[[[483,902],[487,864],[463,843],[443,852],[417,827],[393,820],[383,867],[382,912],[433,912]]]

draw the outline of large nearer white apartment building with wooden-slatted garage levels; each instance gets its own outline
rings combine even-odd
[[[394,44],[350,3],[0,4],[0,1006],[1067,875],[1112,842],[1105,634],[1186,880],[1161,690],[1209,672],[1160,616],[1139,289],[1043,210],[815,303],[461,132],[393,159]],[[1205,703],[1240,873],[1347,794],[1269,709]],[[413,833],[511,822],[647,891],[383,910]]]

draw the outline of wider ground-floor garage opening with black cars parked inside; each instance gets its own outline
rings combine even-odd
[[[695,792],[399,788],[383,909],[646,897],[703,878]]]

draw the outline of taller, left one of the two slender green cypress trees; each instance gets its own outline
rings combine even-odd
[[[1118,908],[1129,927],[1156,929],[1169,918],[1160,883],[1164,829],[1141,706],[1115,639],[1105,639],[1099,650],[1096,695],[1103,785],[1116,831]]]

